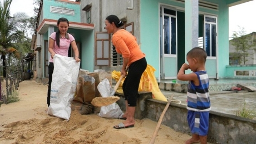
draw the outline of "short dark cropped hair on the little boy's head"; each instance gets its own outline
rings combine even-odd
[[[191,58],[198,58],[200,62],[205,63],[207,53],[204,51],[203,48],[194,47],[186,54],[186,56],[189,56]]]

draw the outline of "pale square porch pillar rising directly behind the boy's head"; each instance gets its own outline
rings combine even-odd
[[[198,0],[185,1],[185,61],[186,53],[198,47]]]

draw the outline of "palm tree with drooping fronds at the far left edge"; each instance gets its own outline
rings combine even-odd
[[[24,23],[28,18],[25,13],[19,12],[11,16],[10,6],[12,0],[4,0],[3,4],[0,1],[0,53],[3,62],[3,76],[6,77],[6,58],[10,62],[11,56],[21,58],[21,55],[26,53],[30,46],[24,42]]]

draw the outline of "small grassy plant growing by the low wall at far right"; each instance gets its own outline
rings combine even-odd
[[[256,115],[255,110],[247,106],[247,103],[244,101],[240,106],[239,110],[235,112],[237,116],[253,119]]]

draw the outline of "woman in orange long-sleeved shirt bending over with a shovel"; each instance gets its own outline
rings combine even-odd
[[[107,33],[113,33],[112,43],[116,48],[116,52],[122,54],[123,65],[121,75],[126,76],[122,85],[126,104],[126,112],[122,117],[126,118],[126,120],[114,126],[114,128],[134,127],[134,113],[140,78],[147,67],[145,54],[140,50],[136,37],[132,36],[132,34],[125,29],[120,28],[124,23],[120,21],[117,16],[108,16],[105,20],[105,25]],[[126,69],[126,67],[128,67],[128,69]],[[129,72],[126,75],[127,70],[129,70]]]

